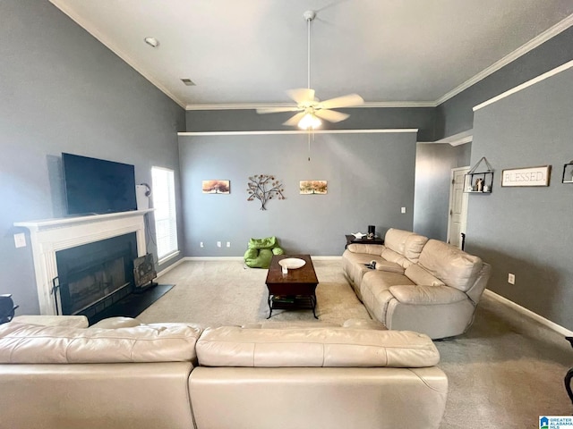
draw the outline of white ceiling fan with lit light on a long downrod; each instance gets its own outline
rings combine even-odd
[[[306,11],[304,19],[307,23],[307,45],[308,45],[308,73],[307,88],[289,89],[286,91],[288,97],[292,98],[296,106],[293,107],[262,107],[257,109],[258,114],[276,114],[279,112],[298,112],[283,125],[295,126],[303,130],[315,130],[321,126],[321,119],[328,122],[344,121],[349,114],[337,112],[339,107],[350,107],[362,105],[364,100],[358,94],[348,94],[342,97],[330,98],[320,101],[314,96],[314,89],[311,88],[311,22],[316,17],[314,11]]]

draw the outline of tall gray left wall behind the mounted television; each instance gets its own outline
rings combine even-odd
[[[0,293],[35,314],[30,237],[14,248],[13,223],[64,214],[61,153],[135,164],[150,183],[152,165],[178,171],[184,110],[47,0],[0,2],[0,35]]]

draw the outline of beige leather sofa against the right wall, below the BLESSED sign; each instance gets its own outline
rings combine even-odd
[[[372,260],[375,269],[365,266]],[[373,318],[434,340],[466,332],[491,273],[479,257],[392,228],[382,246],[348,245],[342,267]]]

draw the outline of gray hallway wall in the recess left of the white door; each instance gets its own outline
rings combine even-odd
[[[414,231],[431,239],[448,239],[451,169],[469,165],[472,144],[418,143],[415,154]]]

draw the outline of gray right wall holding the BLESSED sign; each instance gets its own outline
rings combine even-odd
[[[495,169],[492,194],[470,195],[467,250],[493,265],[488,288],[573,330],[573,71],[563,71],[475,113],[472,163]],[[503,169],[552,165],[551,185],[500,188]],[[507,282],[515,273],[516,284]]]

